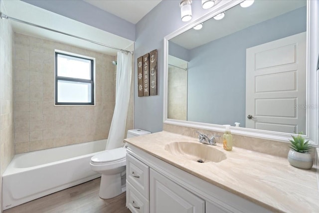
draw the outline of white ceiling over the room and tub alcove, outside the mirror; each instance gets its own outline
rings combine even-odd
[[[149,11],[151,11],[160,0],[86,0],[87,2],[100,7],[112,14],[120,16],[132,23],[138,22]],[[134,41],[120,37],[118,35],[106,32],[96,27],[84,24],[82,22],[67,18],[63,15],[45,10],[20,0],[3,0],[5,7],[4,14],[45,26],[57,31],[65,32],[71,35],[89,39],[98,43],[117,47],[120,49],[128,49],[132,51]],[[141,6],[143,5],[143,6]],[[134,12],[132,12],[134,11]],[[40,17],[40,18],[39,18]],[[9,20],[14,32],[25,35],[54,40],[61,43],[67,43],[73,46],[102,52],[109,55],[116,55],[118,50],[109,47],[83,41],[68,35],[52,32],[39,27]],[[87,33],[90,32],[90,33]]]

